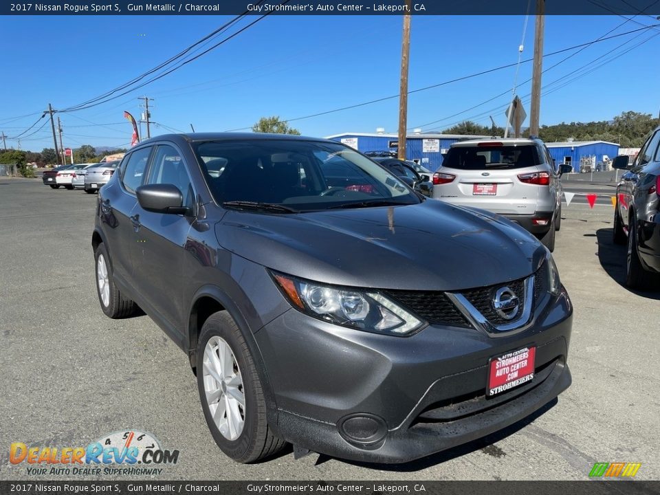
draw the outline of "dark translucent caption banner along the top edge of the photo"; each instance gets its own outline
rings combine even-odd
[[[648,0],[547,0],[547,15],[652,15]],[[529,12],[528,12],[529,8]],[[1,15],[483,15],[535,14],[528,0],[44,0],[1,2]],[[494,26],[495,27],[495,26]]]

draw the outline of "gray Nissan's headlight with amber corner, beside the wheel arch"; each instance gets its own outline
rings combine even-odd
[[[354,329],[409,336],[425,323],[377,292],[306,281],[272,274],[293,307],[319,320]]]

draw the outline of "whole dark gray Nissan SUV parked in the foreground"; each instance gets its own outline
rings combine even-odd
[[[547,248],[338,142],[142,142],[100,190],[91,242],[102,310],[139,306],[188,354],[236,461],[287,442],[410,461],[571,384],[573,309]]]

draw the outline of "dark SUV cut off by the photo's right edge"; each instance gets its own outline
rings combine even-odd
[[[613,167],[626,170],[617,184],[613,239],[628,245],[626,285],[660,289],[660,127],[634,161],[617,156]]]

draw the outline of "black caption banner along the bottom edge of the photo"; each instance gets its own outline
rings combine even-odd
[[[0,481],[0,494],[650,495],[660,481]]]

